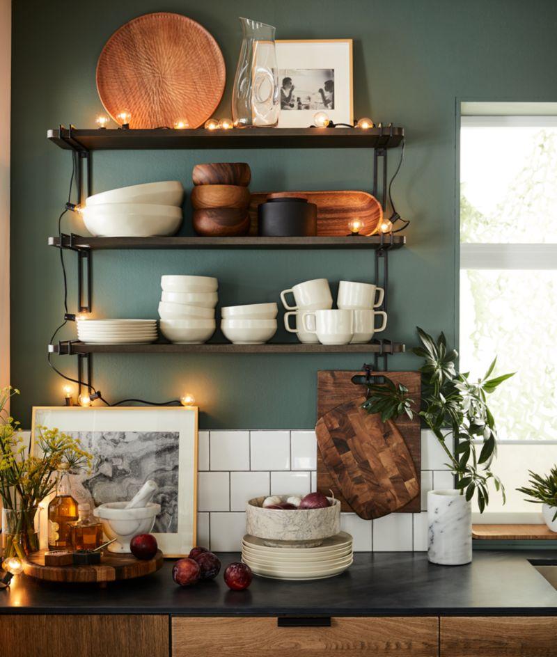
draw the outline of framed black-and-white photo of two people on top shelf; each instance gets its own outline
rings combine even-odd
[[[352,39],[277,40],[276,61],[278,127],[310,127],[318,111],[335,123],[354,124]]]

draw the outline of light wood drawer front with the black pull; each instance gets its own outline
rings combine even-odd
[[[438,657],[437,617],[331,619],[279,627],[276,617],[172,619],[172,657]]]

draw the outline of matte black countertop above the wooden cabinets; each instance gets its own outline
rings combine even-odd
[[[226,564],[239,555],[219,555]],[[552,558],[554,557],[554,558]],[[3,614],[557,615],[557,591],[528,561],[557,564],[552,552],[475,552],[467,566],[435,566],[425,553],[357,553],[342,575],[313,582],[254,576],[233,592],[216,580],[180,588],[173,561],[150,576],[97,585],[42,583],[20,575],[0,590]]]

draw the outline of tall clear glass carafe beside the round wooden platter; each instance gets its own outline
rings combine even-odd
[[[274,44],[275,29],[240,18],[243,38],[232,99],[235,127],[273,127],[278,123],[280,88]]]

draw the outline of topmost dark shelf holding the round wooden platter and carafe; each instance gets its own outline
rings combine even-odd
[[[396,148],[404,128],[243,128],[175,130],[158,128],[56,128],[47,132],[65,150],[153,150],[176,148]]]

